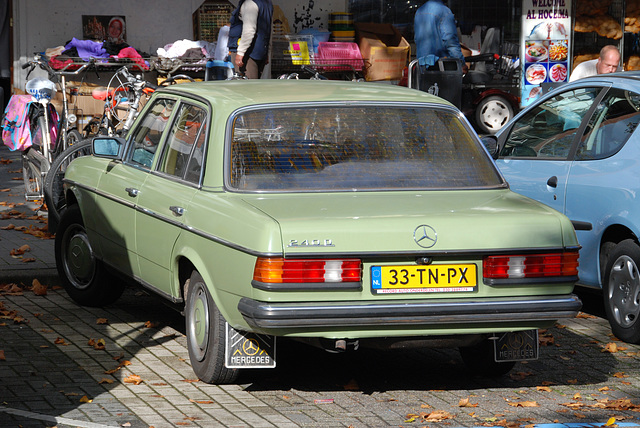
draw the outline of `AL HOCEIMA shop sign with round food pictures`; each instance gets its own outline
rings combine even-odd
[[[523,0],[521,107],[569,80],[572,0]]]

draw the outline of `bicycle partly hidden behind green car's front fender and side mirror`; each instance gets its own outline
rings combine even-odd
[[[192,77],[180,74],[167,78],[160,86],[171,85],[181,79],[194,81]],[[105,105],[102,116],[92,119],[84,128],[90,138],[79,141],[58,155],[45,177],[44,198],[48,208],[49,233],[55,233],[60,215],[66,207],[62,184],[71,161],[91,154],[93,137],[126,135],[140,113],[142,99],[151,96],[157,89],[158,85],[132,74],[125,66],[115,72],[106,89],[94,90],[92,96],[104,101]],[[124,114],[119,115],[119,111]]]

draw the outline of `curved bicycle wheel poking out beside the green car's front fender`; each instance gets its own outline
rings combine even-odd
[[[44,200],[49,210],[49,233],[55,233],[62,211],[67,206],[62,187],[62,179],[67,166],[75,158],[90,154],[91,140],[81,140],[65,149],[51,164],[44,179]]]

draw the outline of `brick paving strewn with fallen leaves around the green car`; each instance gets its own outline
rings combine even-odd
[[[640,424],[640,346],[616,341],[588,295],[595,315],[542,332],[540,359],[499,379],[469,373],[454,350],[328,354],[279,341],[275,369],[199,382],[182,316],[154,296],[128,288],[105,308],[67,297],[53,240],[38,232],[46,212],[24,203],[20,175],[0,149],[0,427]]]

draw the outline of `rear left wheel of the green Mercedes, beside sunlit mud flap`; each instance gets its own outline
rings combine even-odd
[[[187,348],[194,373],[206,383],[234,382],[239,369],[224,365],[226,322],[197,271],[185,283],[185,300]]]

